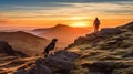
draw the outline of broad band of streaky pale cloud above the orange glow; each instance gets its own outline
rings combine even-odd
[[[41,2],[41,4],[17,6],[9,4],[0,8],[0,14],[4,18],[54,18],[74,15],[133,15],[133,2]]]

